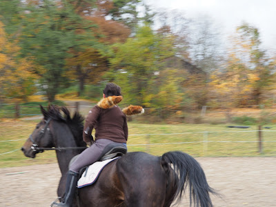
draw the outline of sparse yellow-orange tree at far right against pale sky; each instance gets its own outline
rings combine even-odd
[[[261,48],[257,28],[239,26],[230,46],[227,62],[210,77],[213,95],[228,107],[262,104],[273,89],[275,65]]]

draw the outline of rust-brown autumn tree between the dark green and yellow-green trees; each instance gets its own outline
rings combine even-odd
[[[95,23],[95,27],[90,30],[93,32],[92,37],[98,42],[94,46],[83,44],[70,48],[71,56],[67,59],[66,75],[72,80],[78,80],[80,95],[86,83],[99,82],[104,72],[110,69],[110,45],[124,42],[135,28],[139,1],[95,1],[95,8],[86,1],[70,3],[83,19]]]

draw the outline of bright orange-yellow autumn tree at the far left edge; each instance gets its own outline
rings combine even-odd
[[[0,102],[6,99],[26,101],[36,92],[36,75],[30,61],[18,57],[18,42],[10,43],[0,21]]]

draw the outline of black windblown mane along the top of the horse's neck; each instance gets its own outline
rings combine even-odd
[[[61,114],[61,111],[63,112],[63,115]],[[68,108],[65,106],[59,107],[56,105],[49,105],[48,110],[45,110],[41,106],[41,112],[44,116],[44,119],[51,118],[55,121],[67,124],[72,132],[72,135],[75,137],[77,146],[86,146],[82,139],[84,118],[79,114],[79,112],[75,112],[71,117]]]

